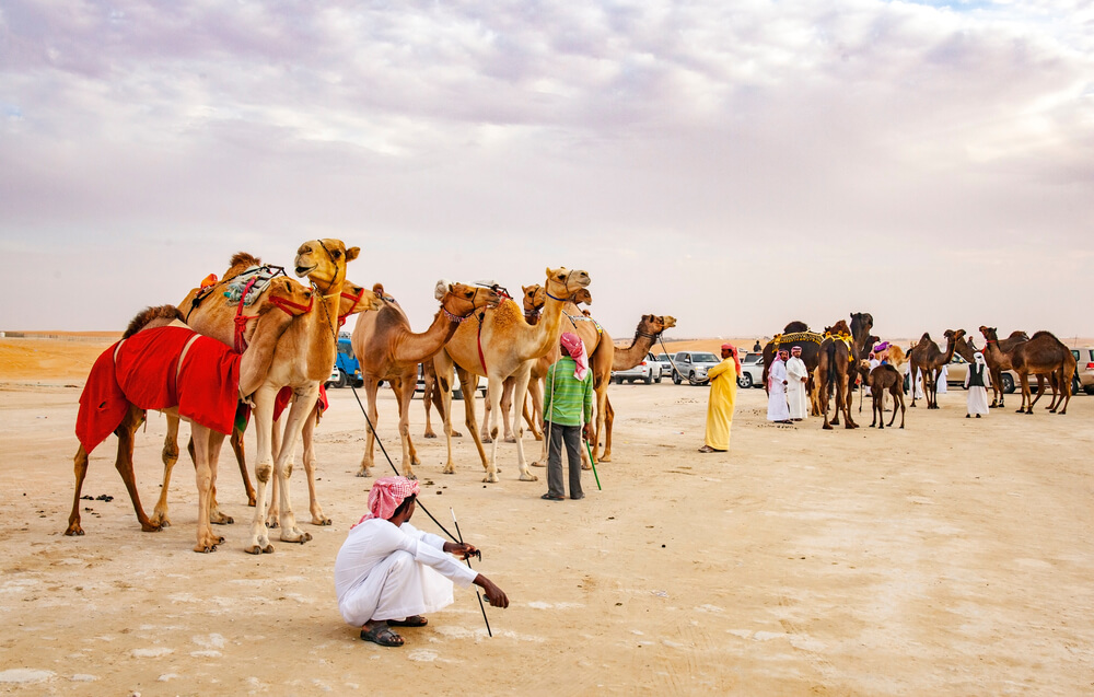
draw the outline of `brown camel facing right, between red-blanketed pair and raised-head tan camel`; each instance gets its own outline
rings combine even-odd
[[[379,283],[373,291],[383,295]],[[384,300],[383,307],[366,312],[357,321],[351,341],[353,353],[361,361],[364,392],[369,405],[369,425],[364,455],[359,477],[372,476],[373,444],[379,414],[376,390],[382,380],[388,381],[399,404],[399,435],[403,441],[403,476],[416,479],[412,465],[420,464],[410,441],[410,398],[417,384],[418,363],[433,355],[456,333],[461,323],[472,313],[493,307],[501,297],[492,288],[476,288],[463,283],[438,283],[441,309],[426,332],[414,334],[403,309],[394,301]]]

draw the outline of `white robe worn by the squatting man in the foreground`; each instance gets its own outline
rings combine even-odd
[[[410,523],[369,519],[349,531],[335,559],[338,611],[350,625],[406,619],[452,604],[452,582],[476,571],[445,553],[444,539]]]

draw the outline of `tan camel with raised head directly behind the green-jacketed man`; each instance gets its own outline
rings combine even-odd
[[[437,369],[438,382],[443,392],[444,433],[447,442],[449,457],[444,465],[445,474],[455,474],[455,462],[452,460],[452,372],[458,368],[459,383],[464,393],[464,411],[467,428],[472,430],[475,446],[478,450],[482,467],[486,469],[484,481],[498,481],[498,427],[501,414],[502,385],[507,377],[515,376],[514,403],[523,404],[532,375],[532,360],[547,353],[558,344],[561,334],[562,306],[567,300],[590,283],[589,274],[582,270],[567,268],[547,269],[545,283],[547,301],[544,304],[543,317],[536,325],[529,325],[524,320],[524,313],[512,299],[504,300],[497,307],[477,313],[475,321],[459,325],[456,333],[437,356],[433,364]],[[487,392],[493,411],[493,426],[490,435],[493,439],[490,458],[487,460],[482,441],[479,438],[478,426],[475,422],[475,390],[478,387],[478,376],[485,375],[488,381]],[[523,431],[523,429],[520,429]],[[516,439],[516,461],[522,481],[535,481],[537,477],[528,472],[524,458],[524,446],[520,433]]]

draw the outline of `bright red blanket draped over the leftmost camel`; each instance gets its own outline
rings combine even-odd
[[[178,358],[195,336],[179,371]],[[232,432],[240,399],[238,353],[174,326],[138,332],[119,344],[98,357],[80,395],[75,434],[86,452],[118,428],[130,404],[141,409],[178,407],[184,419],[225,435]]]

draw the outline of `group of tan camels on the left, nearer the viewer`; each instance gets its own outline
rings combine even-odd
[[[293,271],[298,278],[307,280],[307,287],[289,278],[281,267],[264,265],[246,253],[236,254],[223,278],[210,277],[208,283],[193,289],[177,306],[149,307],[141,312],[130,323],[121,340],[100,357],[93,376],[95,371],[101,371],[102,380],[116,387],[119,393],[117,398],[123,403],[120,410],[107,417],[102,438],[109,432],[118,437],[115,466],[129,491],[141,530],[159,531],[171,524],[167,491],[172,468],[179,455],[179,420],[191,425],[188,450],[195,463],[199,500],[195,551],[213,551],[223,544],[224,538],[213,532],[211,523],[233,522],[231,516],[220,511],[216,488],[220,450],[228,434],[196,420],[199,417],[188,413],[183,405],[187,391],[195,391],[186,381],[187,367],[193,367],[198,360],[194,357],[196,351],[193,356],[187,353],[193,351],[190,346],[194,340],[173,359],[170,363],[173,373],[165,377],[143,375],[141,371],[150,369],[139,361],[119,359],[125,353],[127,341],[139,345],[140,337],[133,338],[136,335],[168,326],[188,328],[196,335],[234,347],[238,352],[238,396],[249,405],[256,429],[256,486],[251,483],[243,452],[242,429],[246,427],[246,419],[237,418],[230,442],[248,502],[255,507],[249,537],[244,544],[244,549],[251,554],[274,551],[271,528],[280,528],[282,542],[305,543],[312,538],[298,525],[291,503],[289,485],[298,439],[304,445],[303,464],[309,484],[311,522],[330,524],[316,500],[312,432],[322,413],[321,386],[329,377],[335,363],[338,329],[349,315],[359,315],[351,340],[361,363],[369,418],[360,476],[369,476],[374,465],[374,428],[379,418],[376,394],[381,382],[389,384],[398,399],[401,472],[406,476],[415,476],[414,465],[419,462],[409,433],[408,410],[418,365],[422,364],[431,383],[430,391],[435,393],[427,392],[423,399],[427,419],[432,403],[443,419],[447,439],[444,473],[455,472],[451,440],[453,435],[458,435],[451,422],[455,375],[467,399],[465,423],[486,471],[484,481],[498,481],[500,435],[516,443],[520,478],[536,480],[524,455],[519,414],[513,415],[516,417],[513,434],[511,407],[525,405],[526,396],[532,395],[535,414],[529,416],[525,411],[525,418],[537,440],[543,442],[540,462],[544,462],[546,442],[535,425],[542,420],[538,411],[543,405],[543,379],[546,369],[559,358],[559,336],[563,330],[578,334],[590,357],[596,404],[596,450],[593,457],[601,462],[610,461],[614,410],[608,400],[607,386],[612,371],[633,368],[641,362],[661,334],[675,326],[675,318],[643,315],[630,345],[617,348],[607,332],[587,312],[578,307],[579,303],[592,303],[589,274],[548,268],[542,284],[523,288],[523,307],[497,284],[468,286],[439,281],[434,295],[440,309],[424,332],[415,333],[398,303],[384,293],[380,283],[368,290],[347,280],[347,265],[359,254],[358,247],[347,248],[340,240],[303,243],[296,251]],[[256,279],[261,280],[256,284]],[[136,374],[123,374],[124,370]],[[475,414],[479,377],[488,381],[482,433],[478,430]],[[161,383],[165,380],[177,391],[177,395],[172,395],[175,399],[173,404],[136,404],[140,399],[132,396],[130,386],[152,380],[160,380]],[[137,387],[133,390],[140,392]],[[84,418],[85,411],[94,416],[96,408],[102,411],[102,405],[95,404],[85,388],[81,396],[80,419]],[[148,408],[160,409],[167,417],[167,435],[162,452],[163,485],[151,516],[141,506],[132,461],[135,434]],[[281,418],[286,408],[288,411]],[[427,437],[431,433],[427,421]],[[102,438],[81,440],[74,457],[75,492],[66,535],[83,534],[81,491],[89,453],[102,442]],[[489,456],[482,445],[485,441],[492,443]],[[600,451],[602,442],[603,451]]]

